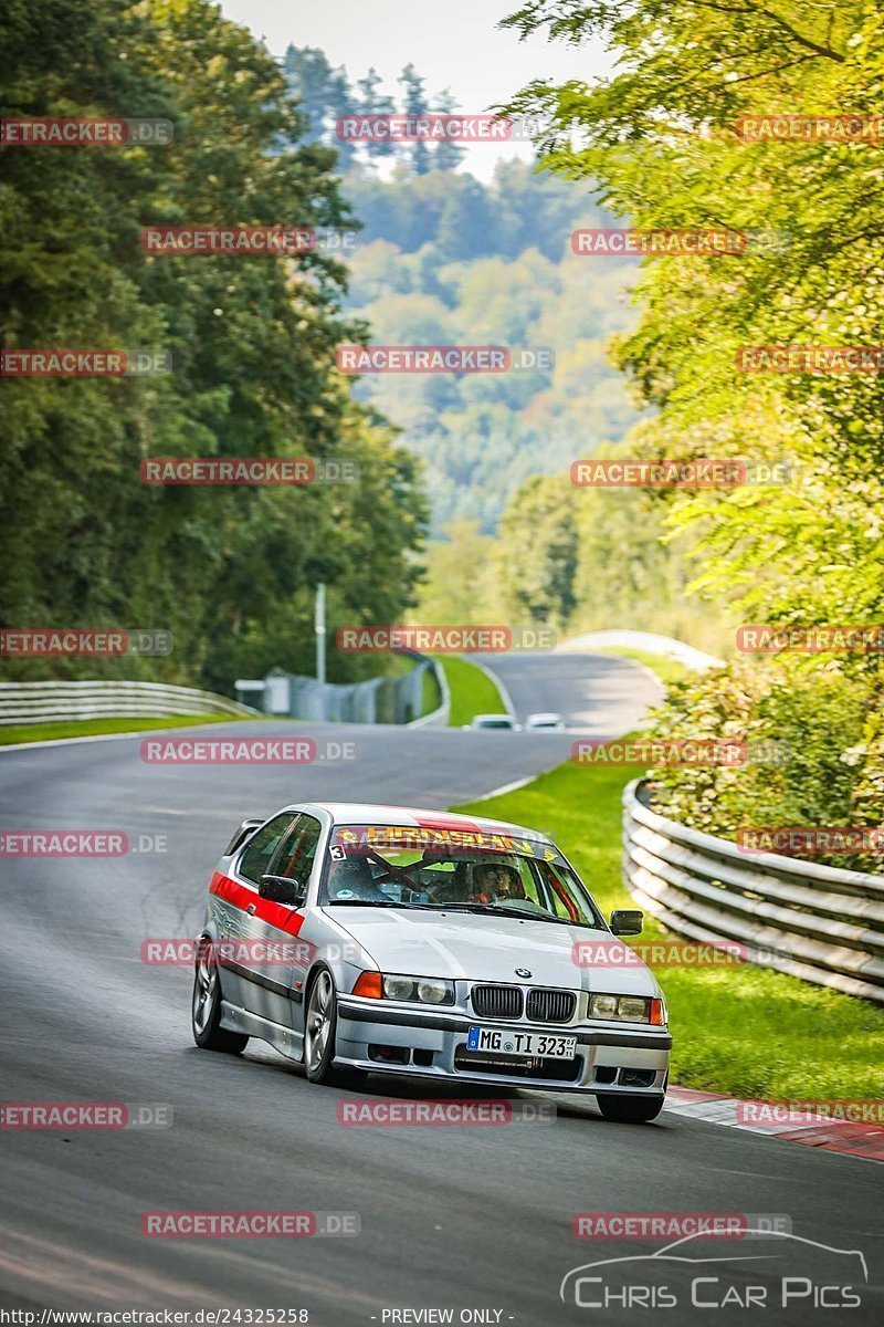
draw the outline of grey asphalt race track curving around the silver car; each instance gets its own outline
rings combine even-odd
[[[628,662],[599,658],[508,660],[501,675],[520,717],[554,709],[599,731],[610,725],[614,735],[635,721],[651,683]],[[163,1129],[0,1132],[0,1304],[307,1310],[319,1327],[439,1322],[402,1312],[445,1307],[453,1322],[645,1322],[651,1308],[580,1308],[573,1296],[566,1304],[559,1283],[579,1265],[660,1245],[578,1241],[571,1220],[694,1210],[785,1214],[801,1239],[861,1250],[877,1290],[863,1286],[860,1307],[832,1311],[808,1311],[807,1300],[786,1311],[774,1300],[716,1311],[680,1299],[684,1307],[659,1307],[657,1322],[884,1320],[873,1233],[881,1172],[872,1162],[665,1112],[652,1125],[610,1124],[591,1099],[530,1092],[518,1099],[558,1105],[554,1123],[347,1128],[337,1105],[353,1093],[306,1083],[260,1043],[240,1059],[196,1050],[191,971],[144,966],[139,950],[147,937],[196,933],[208,873],[243,816],[310,798],[444,807],[545,770],[571,743],[567,734],[300,731],[321,743],[354,742],[357,758],[297,768],[150,766],[137,738],[0,754],[3,829],[117,828],[144,849],[167,836],[164,852],[118,860],[3,860],[0,1095],[174,1109]],[[406,1095],[382,1079],[370,1080],[372,1092]],[[142,1213],[152,1209],[358,1213],[360,1234],[146,1238]],[[747,1245],[709,1247],[733,1257]],[[790,1245],[782,1269],[777,1258],[766,1267],[801,1277],[824,1257]],[[687,1286],[687,1275],[676,1265],[669,1286]],[[774,1285],[774,1271],[758,1263],[740,1275]],[[714,1296],[714,1286],[705,1290]]]

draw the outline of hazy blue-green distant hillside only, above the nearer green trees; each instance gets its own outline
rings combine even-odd
[[[289,46],[284,68],[307,134],[341,154],[342,192],[362,226],[346,308],[371,341],[553,352],[549,370],[366,376],[355,387],[425,462],[435,532],[474,520],[492,533],[525,479],[616,442],[637,418],[606,357],[607,340],[635,321],[635,263],[571,252],[575,227],[616,224],[587,186],[518,159],[501,161],[486,184],[459,169],[456,143],[342,143],[346,114],[456,109],[447,90],[429,97],[412,65],[398,101],[380,96],[376,70],[351,82],[314,48]]]

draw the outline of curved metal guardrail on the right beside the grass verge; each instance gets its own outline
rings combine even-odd
[[[737,942],[750,962],[884,1003],[884,876],[749,856],[652,811],[640,779],[623,792],[623,874],[680,936]]]

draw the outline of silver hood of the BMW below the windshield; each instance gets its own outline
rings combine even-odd
[[[375,910],[341,904],[322,910],[350,932],[382,973],[453,981],[530,981],[533,986],[612,994],[660,993],[637,957],[628,966],[604,961],[611,950],[619,955],[624,949],[624,942],[610,932],[476,913]],[[586,965],[575,963],[575,943],[582,943],[583,951],[588,943]],[[527,969],[531,977],[517,977],[517,967]]]

